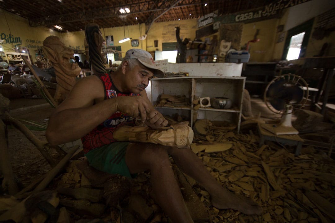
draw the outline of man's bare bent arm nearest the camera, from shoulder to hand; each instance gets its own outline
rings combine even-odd
[[[79,139],[116,111],[132,117],[141,113],[142,119],[146,119],[149,107],[142,97],[123,96],[104,100],[104,92],[104,86],[96,76],[81,79],[50,116],[46,132],[48,142],[58,145]]]

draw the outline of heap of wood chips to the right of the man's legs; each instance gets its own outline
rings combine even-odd
[[[300,156],[274,143],[258,148],[258,136],[250,133],[227,132],[214,142],[191,145],[217,181],[263,208],[260,216],[217,210],[198,189],[210,222],[334,222],[334,160],[311,146]]]

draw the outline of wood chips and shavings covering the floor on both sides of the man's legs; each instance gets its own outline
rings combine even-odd
[[[261,215],[249,216],[232,209],[218,210],[211,205],[208,192],[173,164],[195,222],[335,221],[335,162],[313,147],[303,147],[300,156],[275,143],[259,148],[258,136],[252,131],[228,131],[212,142],[195,141],[192,150],[218,182],[263,208]],[[57,222],[171,222],[154,202],[149,173],[139,174],[128,188],[124,177],[113,183],[113,175],[101,175],[105,179],[94,173],[85,176],[83,168],[78,168],[81,162],[83,159],[70,160],[66,171],[40,192],[47,193],[48,196],[43,194],[44,200],[59,210]],[[171,162],[174,163],[172,158]],[[116,198],[121,189],[123,195]],[[1,198],[0,213],[18,213],[17,205],[24,209],[23,199]],[[29,215],[32,222],[47,222],[48,215],[41,210],[33,213]]]

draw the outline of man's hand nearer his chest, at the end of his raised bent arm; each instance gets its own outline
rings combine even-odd
[[[115,97],[117,100],[117,110],[127,113],[132,117],[138,117],[139,114],[142,120],[147,120],[147,113],[150,113],[152,105],[148,104],[141,96],[123,96]]]

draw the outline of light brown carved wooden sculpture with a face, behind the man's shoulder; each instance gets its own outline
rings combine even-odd
[[[54,99],[60,104],[69,95],[81,69],[77,63],[70,64],[69,60],[74,59],[74,52],[57,36],[48,36],[43,41],[42,50],[54,66],[58,83]]]

